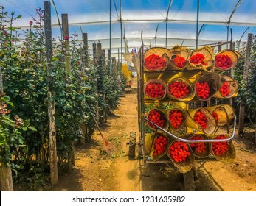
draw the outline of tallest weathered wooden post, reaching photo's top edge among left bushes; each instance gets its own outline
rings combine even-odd
[[[53,82],[55,79],[50,75],[52,73],[52,25],[51,25],[51,4],[44,1],[44,32],[46,38],[46,63],[47,63],[47,103],[49,118],[49,160],[50,177],[52,185],[58,183],[58,159],[56,149],[56,128],[55,128],[55,100]]]

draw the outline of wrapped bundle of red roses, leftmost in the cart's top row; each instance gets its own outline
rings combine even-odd
[[[169,63],[169,49],[153,47],[144,53],[144,71],[165,71]]]

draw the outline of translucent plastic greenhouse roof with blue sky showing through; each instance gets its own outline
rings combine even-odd
[[[196,46],[196,18],[198,0],[51,0],[55,3],[59,19],[61,14],[69,15],[69,34],[88,33],[89,49],[91,43],[102,43],[109,49],[110,2],[111,2],[111,48],[117,54],[121,47],[125,51],[125,40],[130,49],[141,45],[141,32],[145,45],[165,46],[176,44]],[[1,0],[0,5],[8,13],[22,15],[14,26],[29,28],[35,10],[44,8],[43,0]],[[170,10],[168,10],[170,6]],[[232,29],[232,40],[246,40],[247,33],[256,33],[256,1],[254,0],[199,0],[198,45],[227,40],[227,26]],[[167,32],[166,32],[167,23]],[[52,4],[52,37],[60,36],[58,18]],[[156,32],[156,28],[157,32]],[[229,32],[229,40],[230,40]]]

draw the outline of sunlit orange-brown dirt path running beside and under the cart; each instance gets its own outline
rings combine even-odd
[[[109,118],[103,135],[115,146],[114,154],[105,154],[100,134],[96,132],[86,146],[77,146],[75,168],[60,175],[51,191],[176,191],[177,171],[165,164],[128,160],[130,132],[138,132],[136,90],[121,99],[115,116]],[[251,142],[251,141],[246,141]],[[234,163],[207,162],[198,170],[196,191],[256,191],[255,146],[243,139],[235,141]],[[197,165],[198,168],[198,165]]]

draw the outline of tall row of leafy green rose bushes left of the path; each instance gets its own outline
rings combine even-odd
[[[44,13],[38,8],[30,29],[23,31],[13,27],[13,21],[21,16],[9,14],[3,7],[0,11],[4,89],[0,94],[0,163],[12,166],[14,180],[27,182],[32,190],[35,182],[39,184],[49,178]],[[18,46],[21,35],[25,39]],[[97,108],[98,121],[103,124],[117,108],[125,88],[120,63],[113,61],[110,65],[100,54],[92,59],[91,55],[85,55],[80,42],[76,33],[52,39],[53,69],[49,75],[54,79],[52,99],[55,99],[58,166],[63,169],[71,163],[72,144],[81,138],[91,139]],[[66,72],[67,51],[70,74]]]

